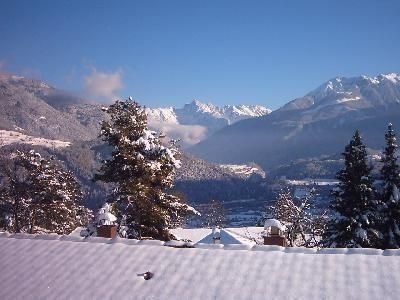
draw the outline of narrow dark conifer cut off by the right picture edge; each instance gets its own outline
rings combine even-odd
[[[400,247],[400,168],[397,164],[397,142],[393,125],[389,123],[385,134],[386,147],[383,152],[381,177],[382,191],[382,233],[384,235],[382,248]]]

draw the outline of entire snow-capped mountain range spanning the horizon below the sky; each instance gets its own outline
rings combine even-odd
[[[257,105],[147,108],[149,124],[181,138],[195,156],[221,164],[255,162],[271,170],[298,159],[337,155],[356,128],[383,147],[400,117],[400,75],[336,77],[271,112]],[[0,129],[65,142],[97,138],[107,118],[99,104],[39,80],[0,74]],[[194,144],[194,146],[193,146]]]

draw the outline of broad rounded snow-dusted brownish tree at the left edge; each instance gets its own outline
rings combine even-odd
[[[81,204],[82,192],[71,172],[33,150],[17,151],[12,161],[0,193],[7,230],[68,234],[88,222],[90,210]]]

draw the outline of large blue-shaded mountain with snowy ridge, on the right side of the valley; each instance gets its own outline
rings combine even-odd
[[[226,127],[189,149],[215,162],[268,168],[341,152],[356,128],[371,148],[384,145],[389,121],[400,129],[400,75],[337,77],[260,118]]]

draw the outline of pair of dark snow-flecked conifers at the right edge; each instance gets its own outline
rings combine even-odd
[[[399,248],[400,169],[392,124],[385,140],[379,183],[371,177],[372,167],[358,130],[346,146],[345,166],[337,174],[339,184],[332,192],[334,215],[324,233],[324,246]]]

